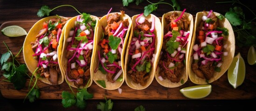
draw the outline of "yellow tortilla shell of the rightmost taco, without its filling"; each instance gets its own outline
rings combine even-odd
[[[220,15],[220,13],[217,13],[217,12],[213,12],[213,13],[216,16]],[[230,64],[231,64],[231,62],[234,58],[234,55],[235,55],[235,35],[234,35],[234,31],[232,29],[232,26],[230,25],[228,19],[226,19],[226,18],[223,19],[223,20],[219,19],[220,27],[227,28],[228,33],[229,33],[228,36],[227,36],[227,40],[223,41],[223,44],[228,45],[227,48],[223,49],[223,51],[228,52],[228,56],[222,56],[223,62],[222,62],[222,65],[221,65],[221,71],[220,72],[214,71],[213,77],[210,80],[208,80],[208,82],[207,82],[206,79],[199,78],[199,77],[197,77],[196,74],[194,74],[194,72],[192,71],[192,68],[191,68],[192,63],[194,61],[193,46],[194,46],[195,39],[196,39],[196,29],[200,25],[202,16],[203,16],[203,12],[197,12],[196,13],[195,24],[194,24],[194,32],[193,32],[193,37],[192,37],[192,40],[191,40],[192,42],[191,42],[190,49],[189,49],[189,55],[190,56],[188,57],[188,68],[187,68],[189,79],[194,84],[198,84],[198,85],[208,84],[208,83],[214,82],[215,80],[218,80],[228,70],[228,68],[229,68],[229,66],[230,66]]]

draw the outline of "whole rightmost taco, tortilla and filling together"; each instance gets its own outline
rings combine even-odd
[[[235,36],[228,19],[212,10],[198,12],[189,51],[188,76],[195,84],[218,80],[235,55]]]

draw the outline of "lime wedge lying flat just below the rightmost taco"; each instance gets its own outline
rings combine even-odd
[[[211,85],[197,85],[190,86],[180,89],[180,93],[182,93],[185,97],[189,99],[201,99],[207,97],[212,92]]]

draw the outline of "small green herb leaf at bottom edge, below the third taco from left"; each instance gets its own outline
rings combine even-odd
[[[114,103],[111,101],[111,99],[107,100],[105,97],[106,102],[100,102],[97,105],[97,109],[101,111],[111,111],[113,108]]]

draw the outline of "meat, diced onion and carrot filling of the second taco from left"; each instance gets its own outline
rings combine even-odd
[[[83,13],[76,18],[75,26],[67,38],[67,79],[76,87],[85,86],[90,79],[90,63],[96,20]]]

